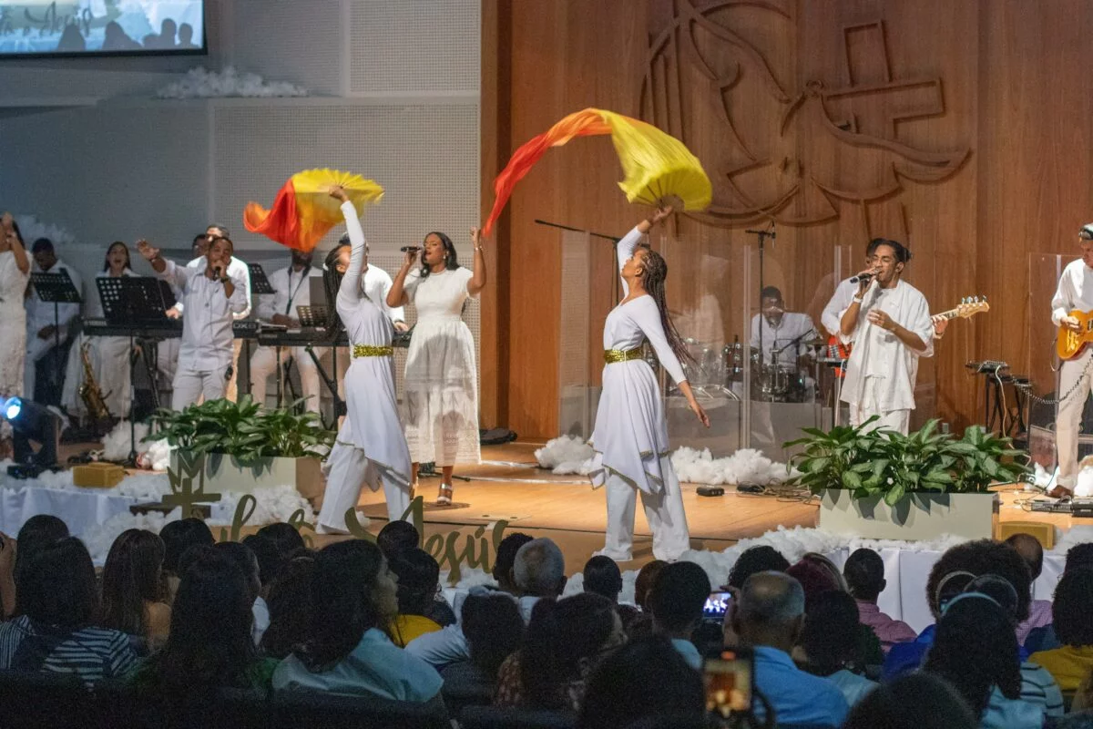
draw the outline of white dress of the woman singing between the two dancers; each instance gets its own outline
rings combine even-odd
[[[463,324],[466,268],[430,273],[411,271],[403,284],[418,307],[403,380],[403,419],[410,457],[436,466],[478,463],[478,365],[474,339]]]

